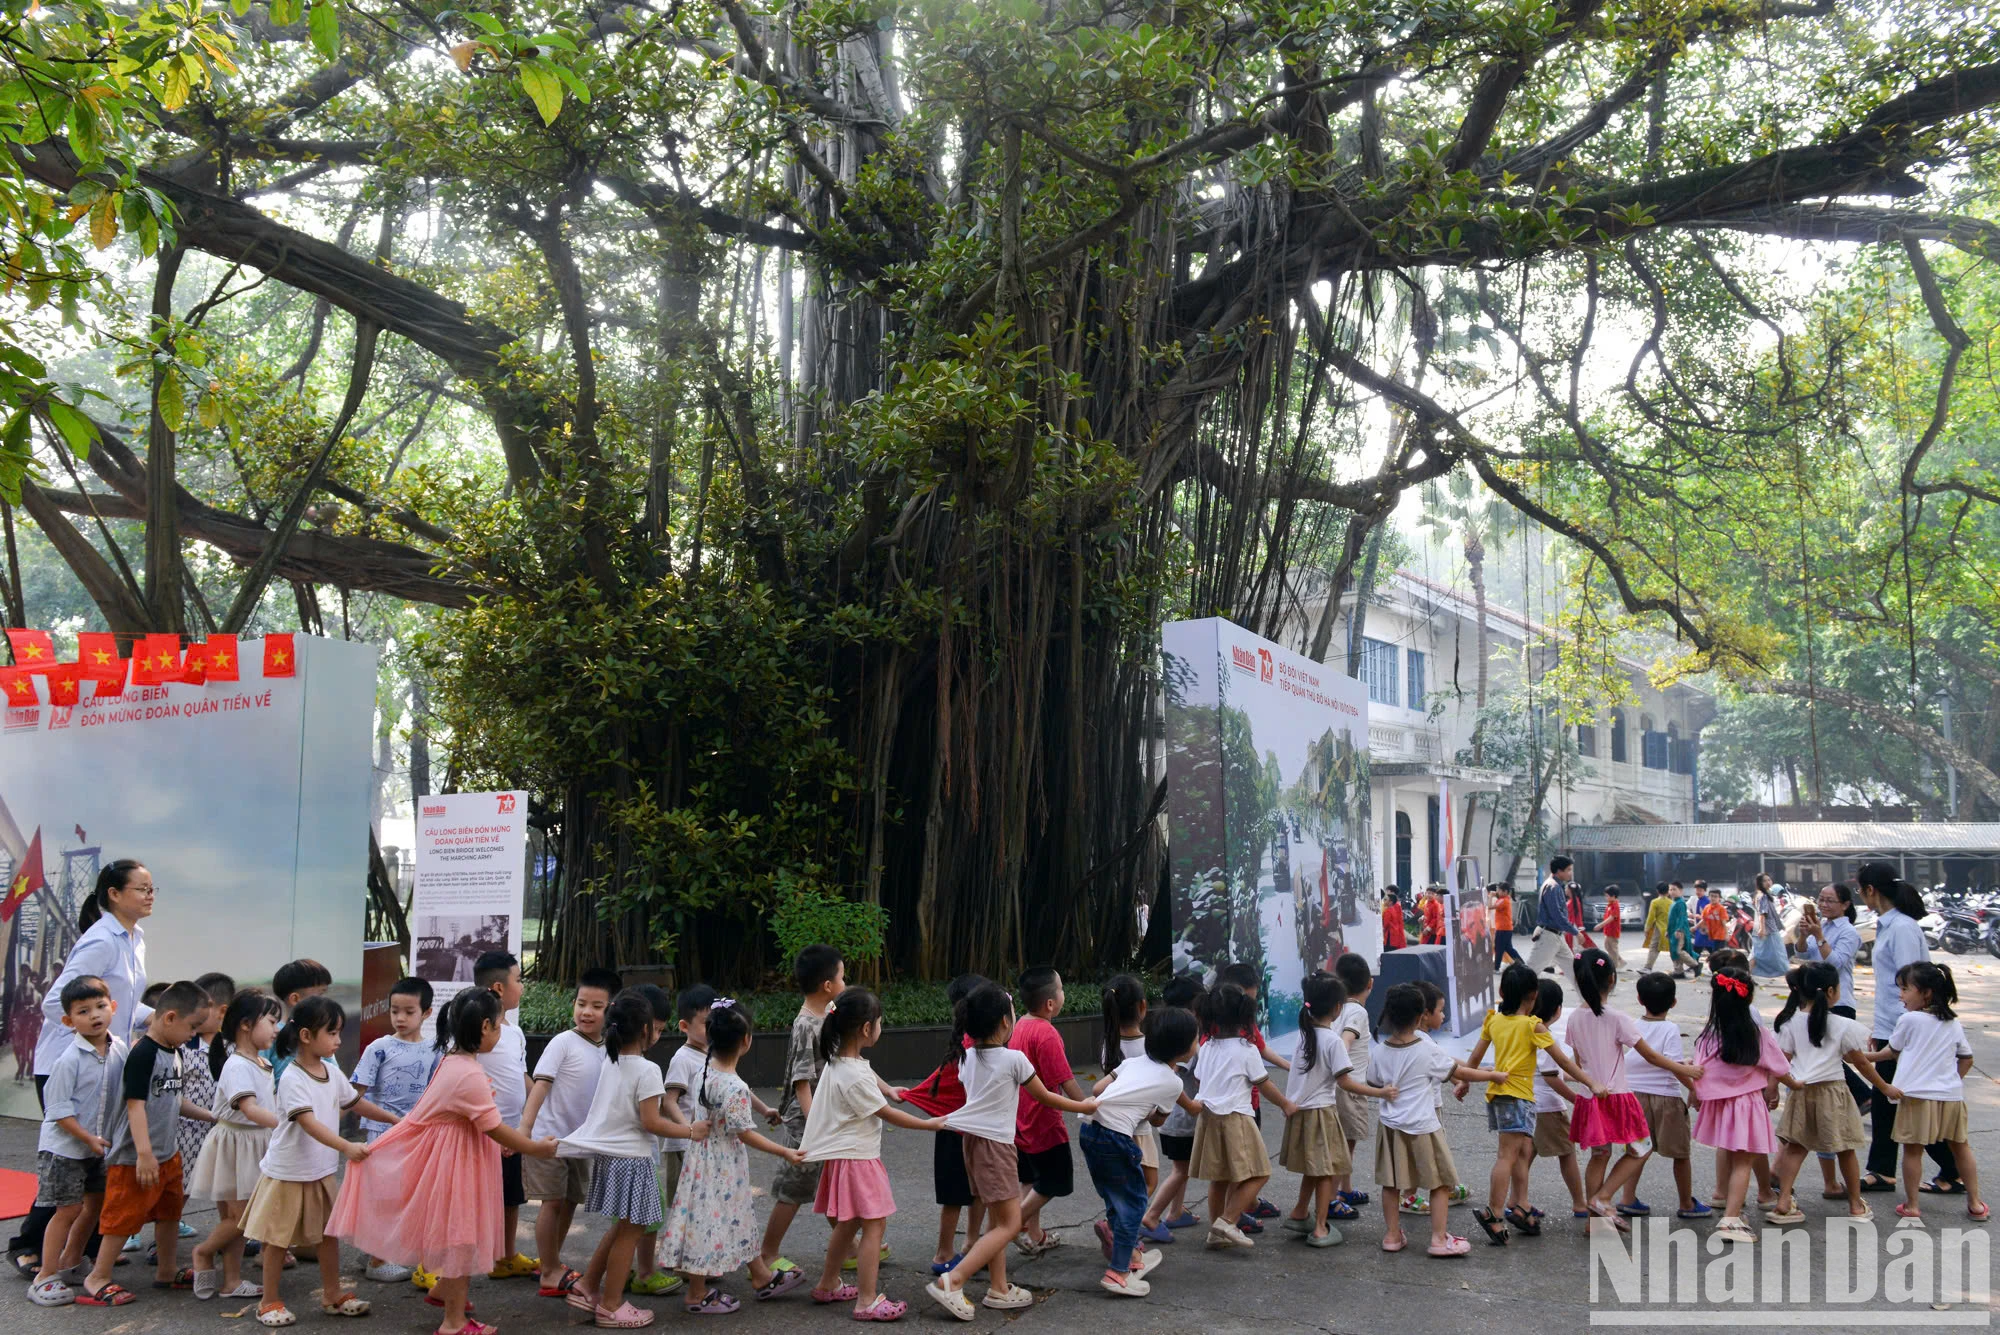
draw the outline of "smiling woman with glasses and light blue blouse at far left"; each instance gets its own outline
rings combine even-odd
[[[76,1041],[62,1023],[62,989],[78,977],[102,977],[118,1009],[112,1011],[112,1037],[132,1041],[132,1019],[146,991],[146,931],[140,923],[152,917],[152,871],[144,863],[120,857],[98,871],[96,889],[78,915],[82,935],[62,961],[62,973],[42,993],[42,1037],[34,1045],[34,1093],[42,1097],[56,1057]],[[90,921],[96,917],[96,921]],[[16,1053],[16,1059],[20,1055]],[[56,1215],[54,1207],[36,1205],[22,1219],[20,1233],[8,1241],[8,1261],[16,1271],[34,1275],[40,1265],[42,1231]],[[30,1261],[32,1259],[32,1261]]]

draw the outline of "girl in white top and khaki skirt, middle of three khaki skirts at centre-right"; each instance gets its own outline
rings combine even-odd
[[[1308,1247],[1338,1247],[1344,1235],[1330,1217],[1334,1183],[1354,1171],[1348,1137],[1340,1125],[1336,1099],[1350,1093],[1368,1099],[1394,1099],[1396,1089],[1382,1089],[1354,1077],[1348,1049],[1334,1031],[1346,1009],[1348,993],[1332,973],[1314,973],[1302,987],[1298,1043],[1292,1049],[1292,1069],[1284,1081],[1284,1097],[1296,1109],[1284,1121],[1284,1143],[1278,1163],[1300,1175],[1298,1203],[1286,1217],[1288,1233],[1298,1233]],[[1310,1211],[1310,1213],[1308,1213]]]

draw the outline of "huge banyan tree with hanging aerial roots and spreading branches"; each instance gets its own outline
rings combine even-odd
[[[10,6],[16,276],[88,228],[136,292],[88,426],[22,372],[20,506],[118,632],[448,610],[446,777],[538,793],[554,971],[752,969],[796,889],[928,973],[1128,957],[1160,620],[1346,652],[1454,470],[1752,660],[1680,544],[1850,446],[1780,260],[2000,258],[1986,4],[236,8]],[[1904,492],[1986,504],[1938,394]]]

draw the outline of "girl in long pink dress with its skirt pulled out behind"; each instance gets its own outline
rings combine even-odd
[[[440,1335],[492,1335],[466,1301],[472,1275],[506,1255],[500,1149],[548,1159],[556,1141],[532,1141],[500,1119],[478,1053],[500,1041],[500,997],[466,989],[438,1015],[446,1049],[416,1107],[382,1133],[348,1179],[326,1223],[330,1237],[396,1265],[440,1275],[430,1303]]]

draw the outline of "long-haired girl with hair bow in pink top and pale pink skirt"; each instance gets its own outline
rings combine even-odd
[[[1700,1103],[1694,1139],[1716,1151],[1716,1167],[1728,1181],[1716,1237],[1754,1243],[1756,1233],[1744,1223],[1750,1165],[1778,1149],[1770,1109],[1778,1105],[1778,1079],[1792,1073],[1792,1063],[1750,1009],[1756,983],[1746,969],[1718,969],[1710,987],[1708,1027],[1694,1039],[1694,1059],[1702,1065],[1694,1083]]]

